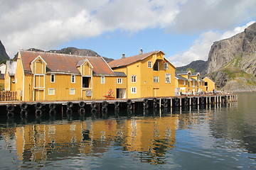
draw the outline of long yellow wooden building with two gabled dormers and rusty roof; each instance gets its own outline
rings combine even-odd
[[[125,77],[102,57],[20,50],[14,91],[21,101],[95,100],[107,94],[116,98],[116,89],[126,86]]]

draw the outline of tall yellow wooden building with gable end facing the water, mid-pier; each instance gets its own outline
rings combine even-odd
[[[109,63],[116,72],[127,75],[127,89],[119,89],[117,96],[127,98],[174,96],[175,69],[160,50],[132,57],[122,57]]]

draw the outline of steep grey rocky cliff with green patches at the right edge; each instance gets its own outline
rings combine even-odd
[[[214,42],[203,74],[223,91],[256,91],[256,23]]]

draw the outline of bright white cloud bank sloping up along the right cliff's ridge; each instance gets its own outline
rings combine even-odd
[[[230,38],[233,35],[241,33],[252,23],[255,23],[255,21],[251,21],[245,26],[240,26],[234,28],[233,30],[228,30],[225,33],[219,33],[218,31],[209,30],[205,33],[202,33],[199,38],[193,42],[188,50],[183,52],[177,52],[176,55],[168,58],[176,67],[184,66],[196,60],[206,61],[208,60],[208,53],[210,51],[211,45],[213,45],[213,42],[223,40],[225,38]]]

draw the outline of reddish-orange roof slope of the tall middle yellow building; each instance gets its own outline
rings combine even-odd
[[[142,55],[134,55],[132,57],[126,57],[126,58],[119,59],[119,60],[113,60],[112,62],[109,62],[108,64],[110,65],[111,68],[125,67],[125,66],[127,66],[129,64],[132,64],[134,62],[139,62],[141,60],[144,60],[146,57],[149,57],[150,55],[157,54],[159,52],[161,52],[161,50],[157,50],[157,51],[154,51],[154,52],[146,52]]]

